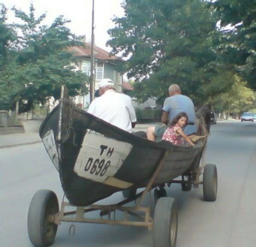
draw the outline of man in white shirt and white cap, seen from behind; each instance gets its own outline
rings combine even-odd
[[[113,81],[106,78],[99,81],[99,95],[91,102],[87,112],[131,132],[137,122],[131,97],[117,93]]]

